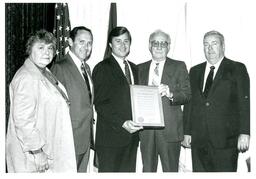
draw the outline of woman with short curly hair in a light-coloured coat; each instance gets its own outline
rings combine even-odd
[[[36,32],[26,44],[28,58],[10,84],[8,172],[76,171],[66,90],[46,67],[55,48],[51,33]]]

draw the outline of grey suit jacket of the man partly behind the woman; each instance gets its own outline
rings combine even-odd
[[[89,69],[89,66],[87,68]],[[51,70],[65,86],[70,99],[76,154],[85,153],[90,146],[90,130],[93,121],[93,104],[86,83],[69,54],[56,62]],[[93,86],[91,86],[91,91],[93,95]]]

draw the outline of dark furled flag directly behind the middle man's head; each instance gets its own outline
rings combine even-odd
[[[117,26],[116,3],[112,2],[110,4],[110,11],[109,11],[108,35],[111,32],[111,30],[114,29],[116,26]],[[111,50],[107,42],[104,59],[109,57],[110,55],[111,55]]]

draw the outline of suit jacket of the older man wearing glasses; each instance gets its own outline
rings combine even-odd
[[[148,85],[151,60],[139,65],[139,84]],[[182,61],[166,59],[161,79],[173,92],[173,101],[162,97],[165,127],[162,132],[166,142],[183,140],[183,113],[181,105],[191,98],[190,83],[186,65]],[[143,131],[141,132],[143,135]],[[142,137],[142,136],[141,136]]]

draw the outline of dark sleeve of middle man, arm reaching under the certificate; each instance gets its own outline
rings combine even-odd
[[[102,123],[110,125],[110,127],[119,132],[123,130],[122,125],[124,123],[122,117],[119,117],[118,114],[114,112],[113,105],[111,104],[110,92],[111,86],[108,84],[109,80],[107,79],[107,70],[101,65],[97,65],[93,69],[92,79],[94,83],[94,105],[97,111],[98,120],[101,120]]]

